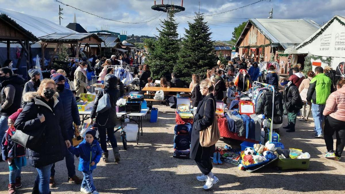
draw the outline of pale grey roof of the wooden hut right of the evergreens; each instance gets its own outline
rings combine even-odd
[[[271,43],[279,43],[285,49],[299,45],[320,26],[304,19],[249,19],[246,25],[256,26]],[[239,46],[249,28],[244,28],[236,46]]]

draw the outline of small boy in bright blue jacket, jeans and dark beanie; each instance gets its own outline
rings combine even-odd
[[[96,168],[101,159],[102,149],[96,139],[96,130],[86,132],[85,139],[77,147],[70,146],[68,151],[72,154],[79,154],[78,170],[84,175],[80,191],[83,193],[98,194],[93,185],[92,171]]]

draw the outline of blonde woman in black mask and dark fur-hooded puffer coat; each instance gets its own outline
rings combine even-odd
[[[23,132],[43,130],[39,143],[28,148],[29,162],[38,172],[33,193],[50,192],[51,166],[63,160],[66,147],[71,146],[65,129],[63,107],[57,96],[55,82],[44,79],[37,92],[28,92],[23,96],[28,104],[14,123],[14,127]]]

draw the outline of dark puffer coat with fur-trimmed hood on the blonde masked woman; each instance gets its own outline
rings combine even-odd
[[[37,92],[26,93],[23,99],[29,103],[14,123],[16,130],[26,132],[44,128],[44,135],[39,144],[35,148],[28,148],[29,162],[35,168],[53,164],[65,157],[64,140],[68,140],[68,134],[65,130],[62,103],[57,97],[56,93],[53,97],[53,109],[51,109],[40,99]],[[46,120],[41,123],[37,114],[43,114]]]

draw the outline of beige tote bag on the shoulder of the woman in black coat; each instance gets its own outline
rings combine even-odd
[[[213,101],[212,103],[214,103],[213,98],[211,99]],[[205,108],[206,108],[206,103],[205,103]],[[204,118],[205,118],[205,108],[204,108]],[[219,133],[219,128],[218,128],[218,122],[217,122],[216,113],[214,113],[214,119],[213,119],[212,125],[200,131],[200,138],[199,138],[200,145],[202,147],[210,147],[216,144],[219,138],[220,138],[220,133]]]

